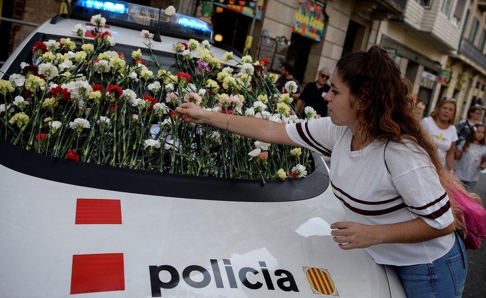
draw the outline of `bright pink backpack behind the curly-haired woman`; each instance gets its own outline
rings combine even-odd
[[[464,239],[466,249],[481,247],[481,238],[486,238],[486,210],[473,198],[460,191],[454,191],[456,204],[464,213],[464,222],[468,234]]]

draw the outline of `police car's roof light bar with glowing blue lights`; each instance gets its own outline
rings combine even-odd
[[[159,9],[125,1],[78,0],[73,5],[72,15],[83,19],[102,14],[113,25],[133,29],[157,28]],[[185,38],[213,40],[214,31],[210,24],[188,15],[160,12],[160,33]]]

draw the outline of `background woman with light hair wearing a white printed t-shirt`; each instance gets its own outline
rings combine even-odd
[[[458,140],[456,127],[452,125],[456,117],[456,99],[443,99],[430,114],[422,120],[437,145],[439,158],[450,172],[454,172],[454,148]]]

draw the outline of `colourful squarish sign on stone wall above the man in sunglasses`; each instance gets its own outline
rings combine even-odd
[[[295,11],[292,32],[321,41],[324,35],[324,4],[300,1]]]

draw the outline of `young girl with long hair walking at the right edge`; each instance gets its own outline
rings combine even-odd
[[[486,126],[476,124],[466,140],[455,151],[456,176],[466,190],[473,192],[479,180],[479,172],[486,169]]]

